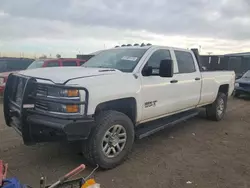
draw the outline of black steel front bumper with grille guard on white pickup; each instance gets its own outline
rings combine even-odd
[[[92,127],[94,127],[94,119],[87,116],[88,107],[88,91],[85,88],[77,88],[86,90],[86,102],[79,102],[85,105],[85,111],[82,115],[67,116],[53,115],[48,112],[37,111],[34,104],[37,101],[48,101],[51,99],[36,97],[33,95],[36,88],[36,80],[34,78],[25,77],[25,86],[21,102],[13,99],[15,96],[15,82],[19,75],[10,75],[4,91],[4,116],[8,126],[13,127],[23,138],[24,144],[30,145],[40,142],[53,141],[77,141],[87,139]],[[68,87],[65,85],[56,85],[55,87]],[[15,90],[15,91],[13,91]],[[58,101],[60,103],[71,103],[71,101]],[[73,103],[74,101],[72,101]],[[74,102],[76,103],[76,102]]]

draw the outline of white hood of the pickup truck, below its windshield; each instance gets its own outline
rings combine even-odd
[[[22,75],[50,79],[55,83],[64,83],[67,80],[79,77],[96,77],[110,74],[122,73],[119,70],[105,68],[86,68],[86,67],[49,67],[30,69],[19,72]]]

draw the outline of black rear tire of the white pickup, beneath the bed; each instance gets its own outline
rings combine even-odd
[[[224,108],[218,110],[220,101],[223,101]],[[220,121],[226,112],[227,108],[227,95],[225,93],[219,92],[216,100],[206,107],[207,118],[213,121]]]

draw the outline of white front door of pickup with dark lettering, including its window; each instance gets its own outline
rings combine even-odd
[[[176,111],[178,101],[178,85],[171,82],[176,79],[162,78],[159,76],[160,62],[164,59],[172,59],[169,49],[158,49],[152,52],[148,58],[141,75],[141,99],[142,99],[142,121],[164,116]],[[147,66],[152,67],[153,75],[145,76],[144,70]],[[176,67],[174,62],[174,70]]]

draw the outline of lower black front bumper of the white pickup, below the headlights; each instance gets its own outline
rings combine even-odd
[[[22,136],[27,145],[40,142],[85,140],[94,127],[93,118],[75,121],[29,115],[25,124],[16,116],[12,116],[11,119],[11,127]]]

